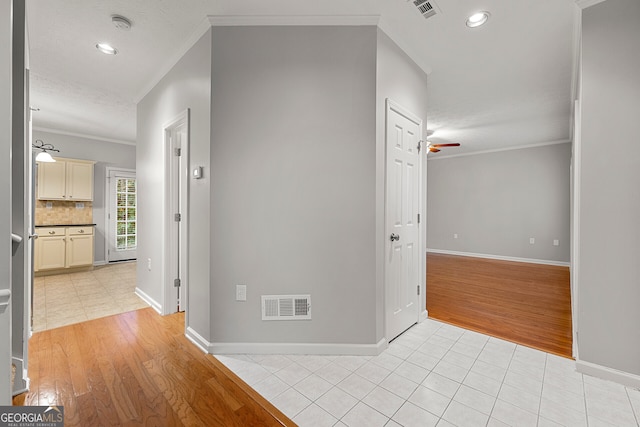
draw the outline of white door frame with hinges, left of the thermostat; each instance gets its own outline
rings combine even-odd
[[[176,157],[174,148],[176,136],[180,137],[180,156]],[[189,133],[190,112],[184,110],[176,118],[164,126],[164,290],[162,301],[162,314],[171,314],[187,310],[188,280],[188,225],[189,225]],[[177,160],[176,160],[177,159]],[[179,186],[175,185],[179,181]],[[181,219],[175,220],[175,214],[179,213]],[[175,228],[177,224],[177,229]],[[176,232],[177,231],[177,232]],[[174,280],[180,279],[180,296],[176,291]]]

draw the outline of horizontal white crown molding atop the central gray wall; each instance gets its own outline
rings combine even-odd
[[[232,26],[377,26],[379,15],[210,15],[212,27]]]

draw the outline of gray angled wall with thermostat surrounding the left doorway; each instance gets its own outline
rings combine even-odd
[[[137,107],[138,179],[137,286],[159,305],[164,280],[164,129],[187,108],[191,112],[190,158],[204,178],[189,180],[189,309],[187,326],[209,339],[211,236],[209,143],[211,122],[211,32],[207,32]],[[151,259],[151,269],[147,269]]]

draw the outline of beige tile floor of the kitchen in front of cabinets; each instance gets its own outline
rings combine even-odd
[[[135,287],[135,262],[36,277],[33,283],[33,331],[148,307],[134,293]]]

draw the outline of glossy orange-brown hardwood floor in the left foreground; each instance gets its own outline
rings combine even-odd
[[[37,332],[30,391],[14,405],[63,405],[65,426],[295,425],[184,336],[184,313],[146,308]]]

